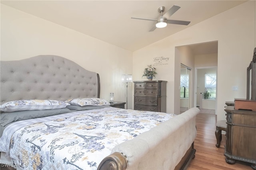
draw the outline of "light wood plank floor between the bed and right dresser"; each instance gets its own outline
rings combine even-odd
[[[220,148],[215,146],[216,115],[199,113],[196,117],[197,136],[194,142],[196,157],[190,162],[187,170],[252,170],[250,164],[236,161],[226,163],[224,145],[226,136],[222,134]]]

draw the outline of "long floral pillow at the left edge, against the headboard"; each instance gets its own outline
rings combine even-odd
[[[60,109],[65,108],[68,105],[70,104],[58,100],[17,100],[6,102],[3,105],[0,105],[0,111],[13,112]]]

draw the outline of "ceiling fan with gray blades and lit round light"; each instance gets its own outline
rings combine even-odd
[[[174,14],[178,9],[180,9],[180,6],[172,6],[170,10],[168,10],[164,15],[163,12],[165,10],[164,6],[161,6],[158,8],[158,12],[161,13],[161,16],[159,17],[158,20],[154,19],[147,19],[147,18],[136,18],[136,17],[131,17],[132,19],[138,19],[138,20],[148,20],[148,21],[156,21],[156,24],[151,28],[151,31],[154,31],[156,28],[164,28],[167,26],[167,24],[178,24],[178,25],[188,25],[190,21],[180,21],[180,20],[168,20],[172,14]]]

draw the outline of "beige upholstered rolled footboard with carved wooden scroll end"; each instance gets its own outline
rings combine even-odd
[[[118,144],[98,170],[110,170],[110,167],[111,170],[185,170],[196,152],[195,119],[199,111],[198,108],[189,109]]]

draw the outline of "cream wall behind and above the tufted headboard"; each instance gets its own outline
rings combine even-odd
[[[101,98],[126,101],[122,74],[132,74],[132,52],[1,4],[1,60],[60,55],[100,74]],[[132,89],[128,91],[132,108]]]

